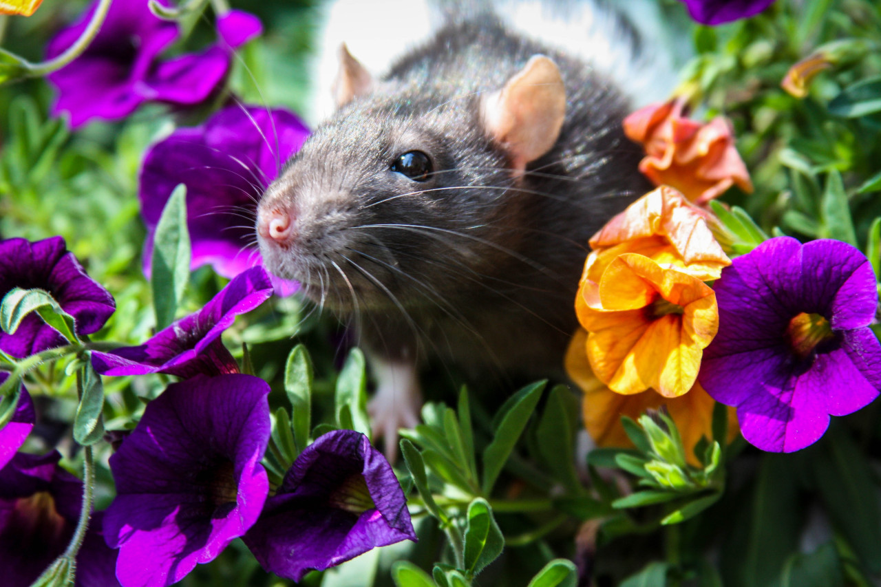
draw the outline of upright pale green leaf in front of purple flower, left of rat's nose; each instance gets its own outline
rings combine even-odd
[[[156,330],[174,322],[189,280],[189,230],[187,229],[187,186],[179,183],[156,225],[151,260],[151,286]]]

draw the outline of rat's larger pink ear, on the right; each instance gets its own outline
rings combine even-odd
[[[481,100],[486,133],[512,156],[515,171],[551,150],[566,117],[566,89],[557,63],[535,55]]]

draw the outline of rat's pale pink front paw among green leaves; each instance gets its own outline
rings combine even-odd
[[[397,458],[397,430],[419,423],[422,393],[416,368],[401,363],[374,365],[378,385],[374,398],[367,404],[373,440],[381,438],[385,456],[390,462]]]

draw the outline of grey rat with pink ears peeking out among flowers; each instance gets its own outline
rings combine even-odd
[[[565,379],[589,237],[650,188],[615,81],[492,11],[374,78],[342,46],[336,111],[261,198],[264,265],[352,320],[393,455],[427,360]]]

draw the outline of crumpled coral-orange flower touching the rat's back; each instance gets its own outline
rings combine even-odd
[[[685,100],[640,108],[624,119],[624,132],[641,143],[640,171],[655,185],[670,185],[697,204],[706,204],[737,183],[752,191],[750,175],[722,116],[701,124],[683,116]]]

